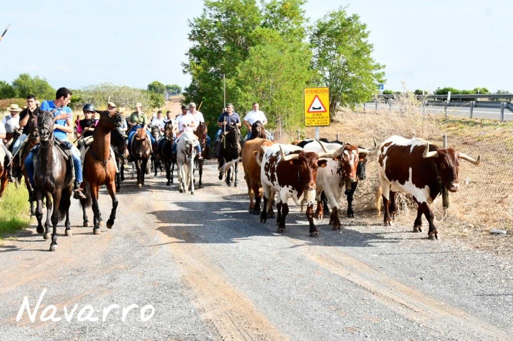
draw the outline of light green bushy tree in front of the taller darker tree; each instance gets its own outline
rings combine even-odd
[[[303,88],[313,77],[310,51],[302,42],[287,42],[277,30],[260,28],[257,33],[262,43],[250,48],[229,88],[245,111],[259,102],[271,127],[278,121],[294,127],[303,119]]]

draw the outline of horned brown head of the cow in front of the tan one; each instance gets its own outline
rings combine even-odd
[[[317,169],[319,167],[326,167],[326,160],[320,160],[321,157],[332,158],[338,157],[344,151],[344,146],[340,147],[333,153],[315,153],[305,152],[304,150],[299,153],[285,155],[282,147],[280,146],[280,153],[282,161],[288,162],[291,165],[298,167],[298,175],[302,180],[304,190],[311,191],[315,189],[315,177],[317,177]]]

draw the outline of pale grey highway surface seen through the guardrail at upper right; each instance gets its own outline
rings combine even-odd
[[[363,108],[363,106],[360,106]],[[366,110],[374,110],[376,108],[376,104],[373,102],[365,103]],[[398,105],[392,105],[391,110],[394,112],[401,111],[401,108]],[[419,112],[422,112],[422,106],[418,107]],[[378,104],[378,111],[390,111],[390,107],[388,104]],[[443,106],[426,106],[425,109],[426,114],[444,114]],[[463,116],[468,117],[470,114],[470,107],[448,107],[447,115],[449,116]],[[473,109],[473,118],[487,118],[487,119],[497,119],[501,118],[501,110],[500,109],[492,109],[492,108],[474,108]],[[513,121],[513,113],[509,110],[504,110],[504,121]]]

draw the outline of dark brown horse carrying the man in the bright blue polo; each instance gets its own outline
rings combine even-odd
[[[43,233],[44,238],[50,238],[50,212],[53,225],[52,242],[50,251],[57,249],[57,223],[66,216],[66,236],[71,236],[69,223],[69,206],[71,205],[71,193],[73,192],[73,165],[71,153],[64,152],[55,144],[53,135],[53,114],[44,111],[38,119],[38,132],[40,135],[40,148],[34,155],[34,191],[36,197],[37,233]],[[66,156],[65,156],[66,154]],[[66,157],[68,160],[66,160]],[[46,223],[43,219],[43,198],[46,198]],[[53,200],[53,209],[52,209]]]

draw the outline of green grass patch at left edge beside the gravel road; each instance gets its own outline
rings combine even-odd
[[[28,192],[24,184],[16,188],[14,184],[7,186],[0,199],[0,240],[4,234],[14,233],[30,223],[30,205],[27,201]]]

